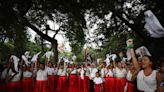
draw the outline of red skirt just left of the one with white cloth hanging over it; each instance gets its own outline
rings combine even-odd
[[[78,92],[78,76],[70,75],[68,85],[69,85],[69,92]]]

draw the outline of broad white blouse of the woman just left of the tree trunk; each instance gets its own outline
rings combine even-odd
[[[45,70],[38,70],[36,80],[47,80],[48,72]]]

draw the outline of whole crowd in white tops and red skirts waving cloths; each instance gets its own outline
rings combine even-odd
[[[127,40],[128,60],[112,54],[110,61],[84,64],[12,55],[0,72],[0,92],[164,92],[164,59],[154,70],[151,55],[141,47],[137,58],[133,47]]]

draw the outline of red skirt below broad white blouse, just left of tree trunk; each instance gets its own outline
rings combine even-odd
[[[49,92],[47,80],[36,80],[34,92]]]

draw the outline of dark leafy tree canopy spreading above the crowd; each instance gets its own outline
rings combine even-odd
[[[164,25],[162,5],[162,0],[1,0],[0,41],[3,43],[5,39],[13,39],[15,47],[26,47],[26,35],[29,31],[27,28],[31,28],[42,39],[49,41],[52,47],[57,48],[57,40],[54,38],[63,31],[70,41],[72,51],[78,54],[82,51],[83,45],[89,41],[86,39],[87,32],[96,25],[94,31],[96,36],[93,37],[95,43],[101,42],[103,46],[108,47],[112,44],[111,37],[119,36],[120,33],[135,33],[144,45],[156,48],[154,43],[164,40],[148,36],[143,27],[143,13],[151,9]],[[51,29],[47,24],[48,20],[58,24],[59,29]],[[49,31],[55,33],[53,37],[48,35]],[[126,40],[129,36],[121,37]],[[122,42],[117,42],[117,39],[115,41],[115,43]],[[25,50],[22,48],[16,51],[22,54]],[[57,59],[57,49],[54,51],[57,53]],[[164,49],[157,46],[152,52],[161,53]]]

